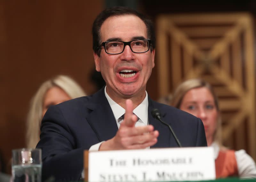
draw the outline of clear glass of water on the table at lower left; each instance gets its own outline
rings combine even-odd
[[[13,182],[41,182],[42,152],[41,149],[12,150]]]

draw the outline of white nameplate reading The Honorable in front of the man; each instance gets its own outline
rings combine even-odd
[[[212,147],[89,152],[89,182],[215,179]]]

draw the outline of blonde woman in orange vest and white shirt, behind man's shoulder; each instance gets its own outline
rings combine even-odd
[[[207,145],[214,148],[216,178],[256,178],[253,159],[244,150],[229,150],[221,143],[220,108],[209,83],[200,79],[181,83],[173,94],[171,105],[203,121]]]

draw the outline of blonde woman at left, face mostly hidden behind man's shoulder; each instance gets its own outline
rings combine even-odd
[[[30,102],[27,118],[27,147],[36,147],[39,141],[41,120],[48,107],[82,96],[86,96],[83,89],[68,76],[58,75],[45,81]]]

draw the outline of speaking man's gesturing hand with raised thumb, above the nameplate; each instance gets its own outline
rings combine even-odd
[[[126,100],[124,121],[115,137],[103,142],[99,150],[142,149],[155,145],[158,131],[152,125],[135,127],[137,116],[132,113],[132,100]]]

